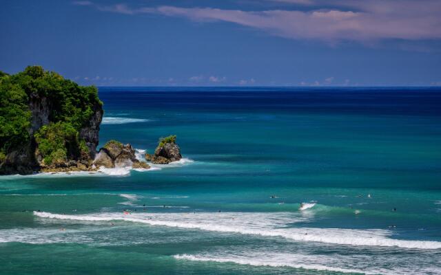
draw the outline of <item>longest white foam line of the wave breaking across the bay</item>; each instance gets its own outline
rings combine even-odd
[[[373,247],[398,247],[411,249],[441,249],[440,241],[408,241],[391,239],[388,230],[351,230],[342,228],[287,228],[288,224],[305,221],[291,213],[167,213],[167,214],[120,214],[65,215],[49,212],[34,212],[38,217],[71,219],[78,221],[122,220],[175,228],[199,229],[215,232],[253,234],[283,237],[294,241],[331,243]]]

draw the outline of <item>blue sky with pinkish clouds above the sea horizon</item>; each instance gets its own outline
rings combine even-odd
[[[0,0],[0,70],[97,86],[441,86],[440,0]]]

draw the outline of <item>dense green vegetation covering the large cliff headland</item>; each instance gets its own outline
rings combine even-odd
[[[45,164],[88,153],[79,130],[94,110],[102,108],[96,87],[82,87],[41,66],[29,66],[14,75],[0,72],[0,162],[32,140],[29,104],[43,98],[48,102],[50,124],[34,137]]]

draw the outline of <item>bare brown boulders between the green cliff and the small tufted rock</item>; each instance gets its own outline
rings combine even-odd
[[[145,162],[136,159],[135,150],[130,144],[122,144],[116,140],[107,142],[101,148],[94,160],[94,166],[114,168],[127,167],[132,168],[150,168]]]

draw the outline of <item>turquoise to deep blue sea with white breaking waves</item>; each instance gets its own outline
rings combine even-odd
[[[102,144],[185,159],[0,177],[0,274],[441,274],[440,90],[100,98]]]

